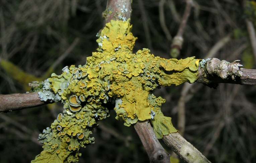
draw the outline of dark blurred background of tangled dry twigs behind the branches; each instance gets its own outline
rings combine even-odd
[[[256,4],[248,3],[244,10],[238,0],[194,0],[178,58],[241,60],[245,68],[255,69],[245,19],[255,27]],[[103,27],[105,7],[106,0],[0,0],[0,94],[26,92],[23,79],[44,80],[67,65],[85,64],[98,46],[96,33]],[[156,56],[171,58],[168,36],[176,35],[185,2],[134,0],[132,8],[133,33],[138,37],[134,52],[149,48]],[[174,126],[178,103],[183,102],[184,137],[210,161],[256,162],[256,87],[188,85],[155,91],[167,100],[162,110]],[[189,90],[181,95],[185,86]],[[0,114],[0,163],[34,159],[42,150],[38,134],[62,107],[51,104]],[[111,112],[100,122],[94,130],[95,144],[81,150],[80,162],[149,162],[135,129],[114,117]]]

